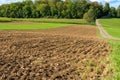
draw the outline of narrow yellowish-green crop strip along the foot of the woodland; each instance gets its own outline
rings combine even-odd
[[[94,25],[86,22],[83,19],[48,19],[48,18],[0,18],[0,22],[10,22],[10,21],[23,21],[23,22],[40,22],[40,23],[66,23],[66,24],[83,24],[83,25]]]

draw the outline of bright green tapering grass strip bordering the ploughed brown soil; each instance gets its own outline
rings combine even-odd
[[[31,30],[31,29],[48,29],[70,26],[72,24],[60,24],[60,23],[0,23],[1,30]]]

